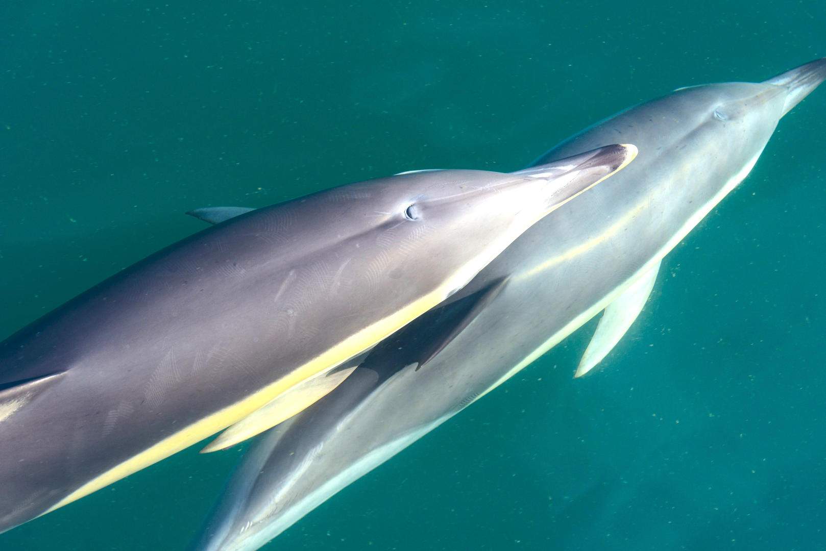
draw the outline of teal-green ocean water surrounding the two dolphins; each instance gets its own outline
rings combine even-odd
[[[3,2],[0,338],[201,230],[192,208],[518,169],[823,57],[824,30],[816,1]],[[824,151],[826,88],[597,373],[572,378],[592,321],[265,549],[826,549]],[[197,449],[0,549],[183,549],[240,458]]]

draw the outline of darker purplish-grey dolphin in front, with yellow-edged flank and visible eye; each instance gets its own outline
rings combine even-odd
[[[0,344],[0,532],[268,402],[301,411],[341,382],[337,366],[635,154],[611,145],[533,173],[318,192],[234,216],[60,306]],[[231,441],[277,422],[255,419]]]

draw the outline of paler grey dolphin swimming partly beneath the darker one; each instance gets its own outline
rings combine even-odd
[[[781,116],[824,78],[820,59],[764,83],[681,89],[544,154],[534,166],[618,139],[640,151],[257,440],[193,549],[259,549],[603,309],[586,363],[604,357],[647,299],[662,257],[746,177]]]

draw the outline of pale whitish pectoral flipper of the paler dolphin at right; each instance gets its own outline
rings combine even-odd
[[[651,295],[659,270],[660,263],[657,262],[634,279],[622,294],[605,308],[605,313],[596,325],[594,336],[591,337],[585,354],[582,354],[582,360],[574,377],[582,377],[591,371],[622,339],[639,316],[639,312],[643,311],[643,306]]]

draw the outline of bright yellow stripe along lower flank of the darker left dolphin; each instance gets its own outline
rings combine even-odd
[[[287,389],[307,378],[311,378],[316,373],[361,354],[364,350],[373,346],[373,344],[384,340],[396,330],[399,330],[404,325],[407,325],[415,320],[415,318],[424,314],[425,311],[430,310],[439,304],[439,302],[442,302],[444,297],[453,290],[454,281],[457,279],[461,281],[463,278],[467,279],[467,274],[464,273],[467,267],[463,268],[465,269],[458,271],[458,278],[454,275],[453,278],[449,279],[448,283],[445,283],[435,291],[428,293],[415,302],[411,302],[411,304],[392,313],[381,321],[377,321],[373,323],[373,325],[368,325],[368,327],[351,335],[339,344],[316,356],[316,358],[311,359],[311,361],[294,369],[291,373],[278,379],[278,381],[269,384],[267,387],[263,387],[258,392],[254,392],[254,394],[235,402],[235,404],[231,406],[227,406],[210,416],[204,417],[202,420],[192,423],[192,425],[185,427],[183,430],[179,430],[175,434],[160,440],[157,444],[140,452],[140,454],[127,459],[125,462],[116,465],[116,467],[86,482],[83,486],[58,501],[54,506],[51,506],[50,509],[42,513],[42,515],[55,511],[55,509],[59,509],[83,496],[88,496],[88,494],[92,492],[97,492],[97,490],[100,490],[102,487],[106,487],[121,478],[128,477],[132,473],[149,467],[161,459],[168,458],[172,454],[177,454],[182,449],[188,448],[192,444],[207,438],[207,436],[214,435],[219,430],[224,430],[245,416],[249,416],[253,411],[265,406],[282,392],[287,391]]]

